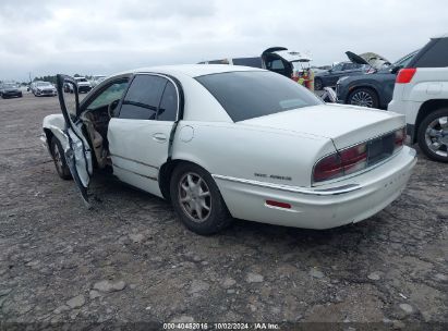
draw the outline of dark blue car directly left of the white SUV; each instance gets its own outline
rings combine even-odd
[[[416,52],[417,50],[371,74],[339,78],[336,84],[338,102],[386,109],[392,99],[398,71],[405,66]]]

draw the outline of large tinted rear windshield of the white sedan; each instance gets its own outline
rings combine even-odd
[[[228,72],[196,79],[234,122],[323,103],[294,81],[273,72]]]

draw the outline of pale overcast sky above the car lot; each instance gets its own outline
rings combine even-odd
[[[447,0],[1,0],[0,79],[308,51],[389,61],[448,32]]]

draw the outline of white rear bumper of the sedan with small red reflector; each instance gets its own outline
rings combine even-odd
[[[351,179],[317,188],[254,185],[214,175],[234,218],[294,228],[330,229],[362,221],[392,203],[411,175],[415,150],[403,149],[383,164]],[[276,200],[290,209],[266,205]]]

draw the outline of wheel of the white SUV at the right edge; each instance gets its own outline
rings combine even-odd
[[[448,162],[448,109],[439,109],[423,119],[417,143],[429,159]]]

